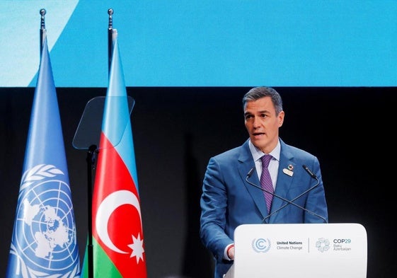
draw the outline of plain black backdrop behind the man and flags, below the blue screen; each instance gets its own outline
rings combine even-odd
[[[210,156],[247,139],[241,98],[248,89],[127,88],[136,101],[132,130],[149,278],[212,277],[212,257],[198,238],[202,177]],[[362,224],[367,277],[395,277],[396,87],[276,89],[286,112],[280,136],[320,160],[330,223]],[[0,88],[0,276],[6,273],[34,90]],[[105,93],[57,88],[81,257],[86,151],[71,142],[88,100]]]

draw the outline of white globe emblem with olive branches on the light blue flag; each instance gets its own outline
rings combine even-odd
[[[33,169],[21,183],[25,192],[18,200],[11,253],[18,256],[23,277],[36,277],[38,272],[38,277],[65,273],[62,277],[78,277],[79,250],[69,185],[56,178],[63,173],[54,166]]]

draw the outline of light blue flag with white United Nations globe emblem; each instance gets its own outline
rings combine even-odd
[[[8,278],[80,276],[64,139],[44,40],[16,207]]]

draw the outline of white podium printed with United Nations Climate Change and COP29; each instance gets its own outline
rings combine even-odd
[[[234,245],[225,278],[367,277],[361,224],[244,224],[234,232]]]

